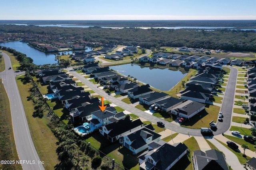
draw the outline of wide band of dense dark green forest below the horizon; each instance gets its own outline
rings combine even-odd
[[[101,28],[101,27],[39,27],[24,25],[0,25],[0,39],[6,34],[22,33],[20,36],[36,34],[51,40],[68,42],[82,40],[121,45],[152,47],[192,47],[222,49],[230,51],[256,51],[256,32],[240,29],[140,29],[140,28]],[[46,39],[46,38],[44,38]]]

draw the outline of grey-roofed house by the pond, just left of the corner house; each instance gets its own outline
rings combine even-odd
[[[173,107],[178,106],[183,102],[185,102],[184,99],[168,97],[154,102],[154,104],[156,104],[156,106],[159,107],[162,111],[169,112]]]

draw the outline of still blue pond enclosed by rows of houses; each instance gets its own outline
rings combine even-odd
[[[116,70],[124,76],[133,76],[138,81],[149,84],[150,86],[168,91],[172,89],[184,76],[188,74],[186,71],[169,70],[168,68],[154,68],[149,66],[141,66],[137,64],[124,64],[119,66],[110,66],[109,68]]]

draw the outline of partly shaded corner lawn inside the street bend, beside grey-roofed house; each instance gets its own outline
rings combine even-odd
[[[182,127],[187,127],[191,129],[200,129],[201,127],[208,127],[210,121],[217,121],[218,113],[220,111],[219,106],[206,105],[205,110],[200,111],[200,113],[194,115],[190,120],[182,123]]]

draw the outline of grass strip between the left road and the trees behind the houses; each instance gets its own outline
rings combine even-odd
[[[42,119],[40,119],[32,116],[34,112],[34,104],[32,100],[28,100],[27,98],[30,96],[28,89],[31,86],[30,84],[24,82],[23,78],[24,76],[19,76],[16,78],[16,80],[19,92],[21,94],[20,96],[26,113],[26,119],[28,121],[31,137],[40,160],[45,162],[44,168],[47,170],[52,170],[56,164],[60,163],[56,153],[56,143],[58,140],[52,133],[51,129],[47,126],[50,120],[48,120],[46,117],[42,117]]]

